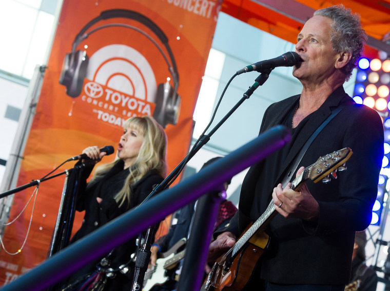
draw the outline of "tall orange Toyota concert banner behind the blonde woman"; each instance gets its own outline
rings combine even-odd
[[[188,152],[220,2],[65,0],[18,186],[44,177],[88,146],[116,148],[131,116],[151,115],[165,128],[171,172]],[[22,214],[5,228],[1,285],[45,260],[64,181],[60,175],[42,182],[36,201],[33,188],[14,195],[9,221]],[[73,230],[82,217],[76,215]],[[163,222],[158,235],[167,227]]]

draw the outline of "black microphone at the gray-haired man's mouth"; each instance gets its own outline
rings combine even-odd
[[[301,57],[296,52],[286,52],[278,57],[258,61],[255,64],[246,66],[237,71],[237,75],[251,71],[262,73],[265,70],[274,70],[276,67],[293,67],[301,60]]]

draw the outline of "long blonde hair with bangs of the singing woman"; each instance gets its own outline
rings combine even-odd
[[[114,196],[119,206],[122,206],[126,200],[127,205],[130,206],[130,186],[141,180],[151,170],[157,171],[162,177],[166,176],[167,136],[162,126],[151,116],[130,117],[125,121],[123,128],[134,129],[144,136],[138,157],[128,168],[129,175],[126,178],[123,188]],[[96,168],[90,183],[102,178],[114,166],[118,159],[118,156],[116,156],[113,162],[103,164]]]

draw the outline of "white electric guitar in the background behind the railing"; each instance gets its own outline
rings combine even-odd
[[[154,285],[164,284],[172,274],[168,274],[169,271],[175,269],[181,259],[184,258],[185,251],[179,253],[178,250],[186,244],[186,239],[182,238],[175,243],[168,251],[159,254],[159,259],[156,260],[155,266],[148,269],[144,277],[144,287],[142,291],[149,291]]]

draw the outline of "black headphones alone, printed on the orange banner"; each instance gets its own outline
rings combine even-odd
[[[156,41],[151,38],[146,32],[143,32],[139,28],[135,28],[126,24],[107,24],[97,27],[86,33],[86,31],[92,25],[99,22],[100,20],[118,17],[133,19],[148,27],[164,45],[166,51],[168,52],[170,63],[168,57],[161,49],[161,47],[156,43]],[[157,95],[155,96],[156,107],[153,113],[153,117],[164,128],[167,126],[168,123],[177,124],[181,107],[181,97],[178,95],[177,92],[179,87],[179,74],[172,51],[168,45],[168,38],[166,37],[165,33],[154,22],[152,22],[152,20],[150,20],[150,18],[135,11],[126,9],[112,9],[102,11],[99,16],[93,18],[76,35],[72,44],[72,51],[66,54],[61,69],[60,84],[65,86],[66,94],[72,98],[79,96],[81,94],[81,91],[83,90],[84,78],[87,73],[88,55],[85,51],[76,51],[77,46],[79,46],[81,41],[87,38],[89,34],[95,32],[96,30],[112,26],[121,26],[134,29],[147,36],[153,42],[153,44],[159,48],[159,51],[163,55],[166,63],[168,64],[168,69],[172,76],[174,86],[172,87],[169,82],[165,82],[163,84],[158,85],[156,93]]]

